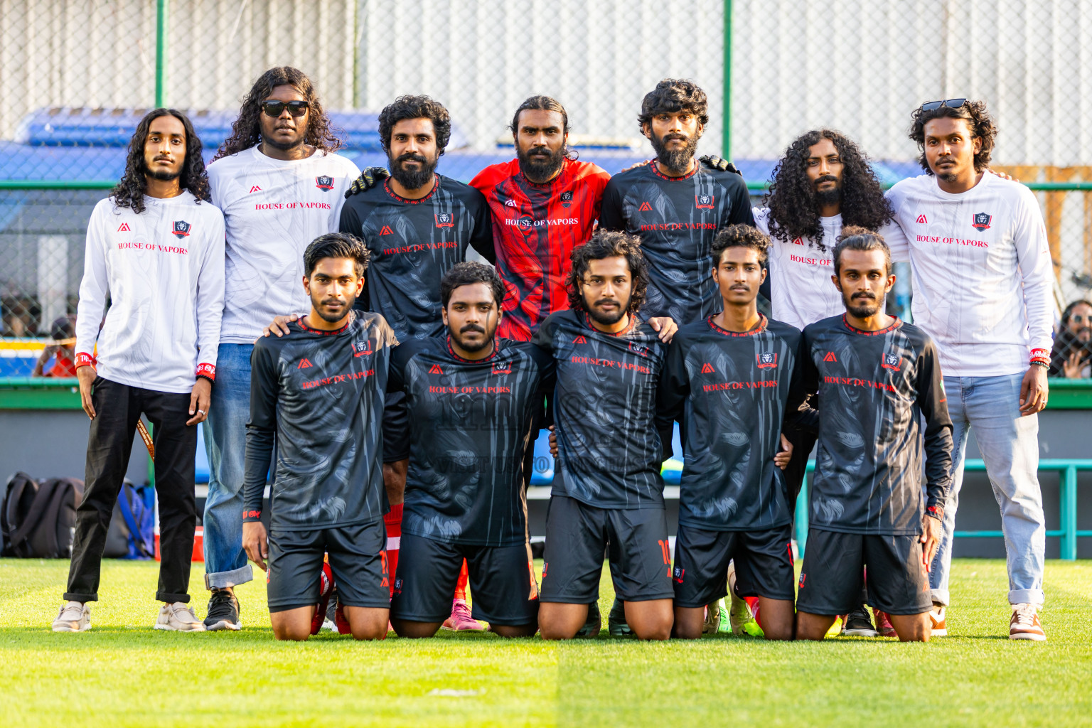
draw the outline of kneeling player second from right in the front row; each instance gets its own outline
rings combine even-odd
[[[747,225],[717,234],[713,281],[724,308],[679,329],[660,380],[661,406],[679,419],[686,452],[676,637],[701,636],[703,608],[727,594],[735,559],[737,596],[759,598],[765,637],[793,639],[792,509],[782,475],[792,447],[781,431],[784,420],[806,417],[814,427],[815,413],[799,411],[799,330],[767,320],[756,305],[769,242]]]

